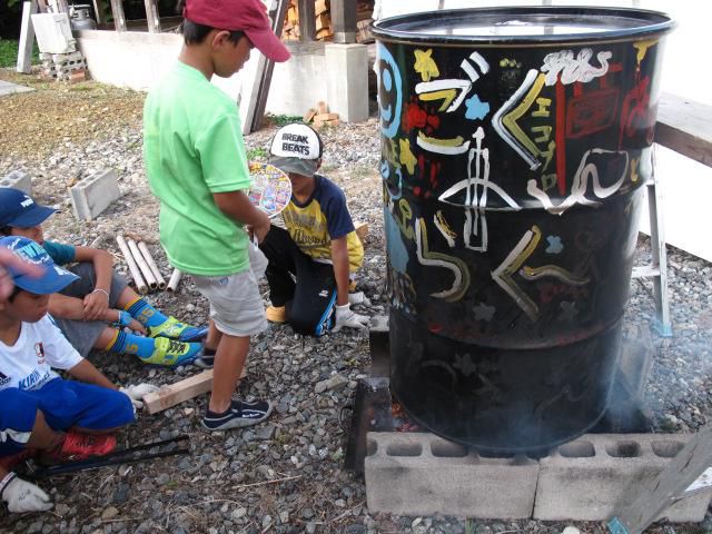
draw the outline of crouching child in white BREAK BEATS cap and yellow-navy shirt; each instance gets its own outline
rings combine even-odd
[[[287,229],[271,225],[259,246],[269,260],[267,319],[314,336],[345,326],[363,329],[369,320],[350,309],[350,276],[362,266],[364,247],[344,191],[316,175],[323,149],[307,125],[288,125],[275,135],[269,162],[289,175],[291,200],[281,212]]]

